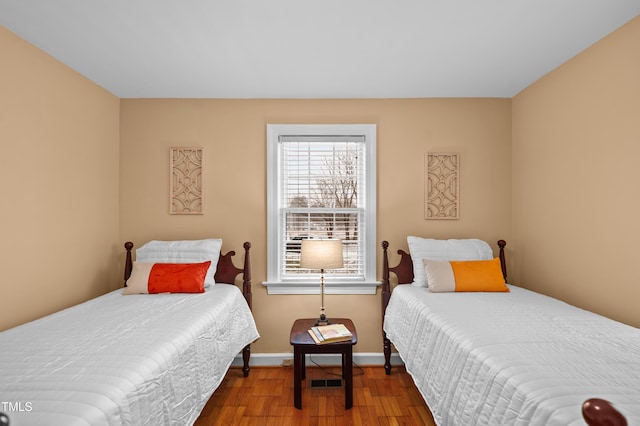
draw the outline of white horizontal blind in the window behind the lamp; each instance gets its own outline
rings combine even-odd
[[[344,268],[325,274],[364,279],[364,137],[280,136],[279,143],[282,276],[317,274],[299,267],[300,241],[334,238],[342,240]]]

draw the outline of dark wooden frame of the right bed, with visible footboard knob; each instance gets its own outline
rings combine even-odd
[[[507,265],[505,261],[504,248],[507,242],[498,240],[500,248],[500,265],[502,266],[502,275],[507,279]],[[393,272],[398,278],[398,284],[410,284],[413,282],[413,261],[411,256],[404,250],[398,250],[400,255],[399,263],[394,267],[389,267],[389,257],[387,250],[389,242],[382,242],[382,324],[384,324],[384,315],[391,298],[391,282],[389,280],[390,272]],[[387,338],[387,334],[382,330],[382,343],[384,352],[384,370],[387,374],[391,374],[391,341]],[[604,399],[592,398],[586,400],[582,405],[582,415],[589,426],[627,426],[625,417],[616,410],[613,405]]]

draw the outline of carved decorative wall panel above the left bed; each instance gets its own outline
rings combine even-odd
[[[202,148],[171,148],[170,214],[203,214]]]

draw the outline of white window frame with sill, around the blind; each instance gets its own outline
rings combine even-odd
[[[365,138],[365,220],[361,229],[364,277],[333,278],[325,274],[326,294],[375,294],[376,280],[376,125],[375,124],[267,124],[267,287],[268,294],[319,294],[319,278],[285,279],[281,276],[279,250],[280,220],[280,136],[362,135]]]

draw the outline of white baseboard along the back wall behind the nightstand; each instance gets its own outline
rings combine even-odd
[[[312,362],[313,361],[313,362]],[[382,352],[355,352],[353,354],[353,362],[360,366],[369,365],[384,365],[384,354]],[[340,354],[312,354],[307,355],[306,365],[313,365],[313,363],[319,365],[335,365],[342,364]],[[391,365],[403,365],[400,356],[393,352],[391,354]],[[233,360],[234,367],[242,366],[242,355],[237,355]],[[249,359],[249,365],[251,367],[278,367],[282,365],[293,365],[292,353],[252,353]]]

